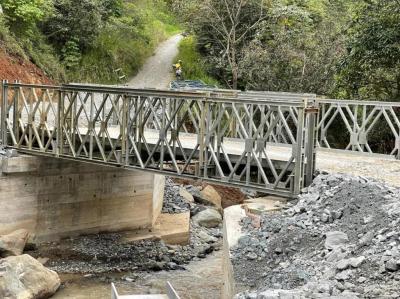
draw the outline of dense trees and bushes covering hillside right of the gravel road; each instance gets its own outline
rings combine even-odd
[[[169,0],[232,88],[400,100],[400,3]]]

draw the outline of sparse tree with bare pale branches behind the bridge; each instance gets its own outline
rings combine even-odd
[[[265,17],[263,0],[206,0],[199,4],[194,29],[200,47],[221,69],[228,63],[233,89],[238,88],[242,48]]]

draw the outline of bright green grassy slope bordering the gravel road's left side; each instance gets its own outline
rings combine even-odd
[[[110,17],[92,45],[83,52],[79,72],[68,72],[72,81],[117,83],[116,69],[133,76],[155,47],[179,31],[164,1],[124,3],[120,17]]]

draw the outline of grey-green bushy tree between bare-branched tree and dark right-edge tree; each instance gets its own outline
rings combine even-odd
[[[247,89],[330,94],[348,8],[340,1],[291,2],[275,3],[258,26],[243,49],[240,77]]]

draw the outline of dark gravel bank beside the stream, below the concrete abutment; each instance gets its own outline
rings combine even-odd
[[[124,243],[120,234],[112,233],[42,244],[31,254],[50,258],[46,266],[58,273],[183,269],[190,261],[219,250],[222,243],[219,227],[206,228],[192,222],[190,231],[187,246],[166,245],[158,240]]]

